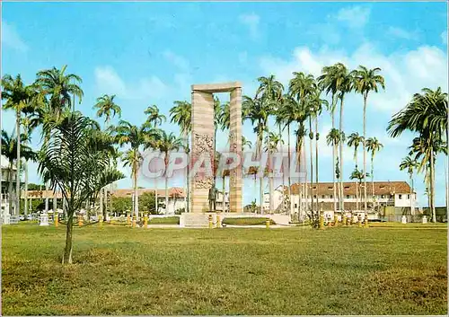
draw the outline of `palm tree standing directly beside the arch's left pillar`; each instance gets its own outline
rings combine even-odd
[[[188,101],[174,101],[174,106],[170,110],[170,122],[176,123],[180,127],[180,135],[184,139],[184,150],[189,155],[189,133],[191,132],[191,104]],[[186,171],[186,211],[189,212],[190,191],[189,191],[189,167]],[[156,194],[157,195],[157,194]],[[156,199],[157,201],[157,199]],[[157,205],[156,205],[157,206]]]

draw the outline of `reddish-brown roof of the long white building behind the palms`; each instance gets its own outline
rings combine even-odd
[[[355,181],[345,181],[343,183],[344,195],[356,195],[356,185]],[[299,183],[295,183],[292,185],[291,190],[293,195],[298,195],[299,189],[304,187],[304,184],[300,185]],[[364,184],[362,183],[362,191]],[[366,195],[373,196],[373,187],[371,181],[366,181]],[[310,192],[312,189],[311,184],[307,183],[307,188]],[[316,195],[316,183],[313,183],[313,194]],[[337,183],[337,190],[338,190]],[[277,190],[282,189],[282,186],[278,187]],[[407,181],[374,181],[374,194],[375,195],[393,195],[393,194],[409,194],[410,187]],[[285,187],[285,192],[287,193],[288,186]],[[333,195],[333,182],[319,182],[318,183],[318,195],[329,196]]]

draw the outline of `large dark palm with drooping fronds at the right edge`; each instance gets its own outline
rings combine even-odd
[[[392,137],[401,136],[405,130],[417,132],[422,140],[422,160],[418,172],[428,166],[429,194],[432,221],[436,222],[435,209],[435,161],[436,147],[441,145],[443,135],[448,139],[447,130],[447,93],[438,87],[435,91],[424,88],[415,93],[405,109],[393,115],[387,131]],[[447,149],[446,149],[447,150]]]

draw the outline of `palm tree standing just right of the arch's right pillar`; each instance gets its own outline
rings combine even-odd
[[[242,117],[244,119],[250,119],[251,123],[255,125],[254,132],[257,135],[256,140],[256,156],[260,157],[262,152],[263,133],[267,131],[269,123],[269,115],[273,113],[269,102],[260,98],[254,98],[243,96],[242,101]],[[260,167],[264,169],[264,167]],[[260,212],[263,211],[263,172],[260,177]]]

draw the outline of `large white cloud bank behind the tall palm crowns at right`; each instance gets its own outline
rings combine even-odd
[[[303,71],[315,76],[321,74],[321,68],[341,61],[354,69],[359,65],[368,68],[381,67],[385,78],[385,92],[372,93],[370,106],[390,114],[401,110],[414,92],[423,87],[447,87],[447,56],[436,47],[422,46],[405,53],[383,55],[370,43],[365,43],[352,54],[341,50],[321,48],[312,51],[307,47],[295,48],[289,60],[274,57],[260,58],[260,67],[264,74],[274,74],[283,84],[292,78],[292,72]],[[356,96],[348,96],[348,99]],[[357,96],[358,98],[359,96]]]

